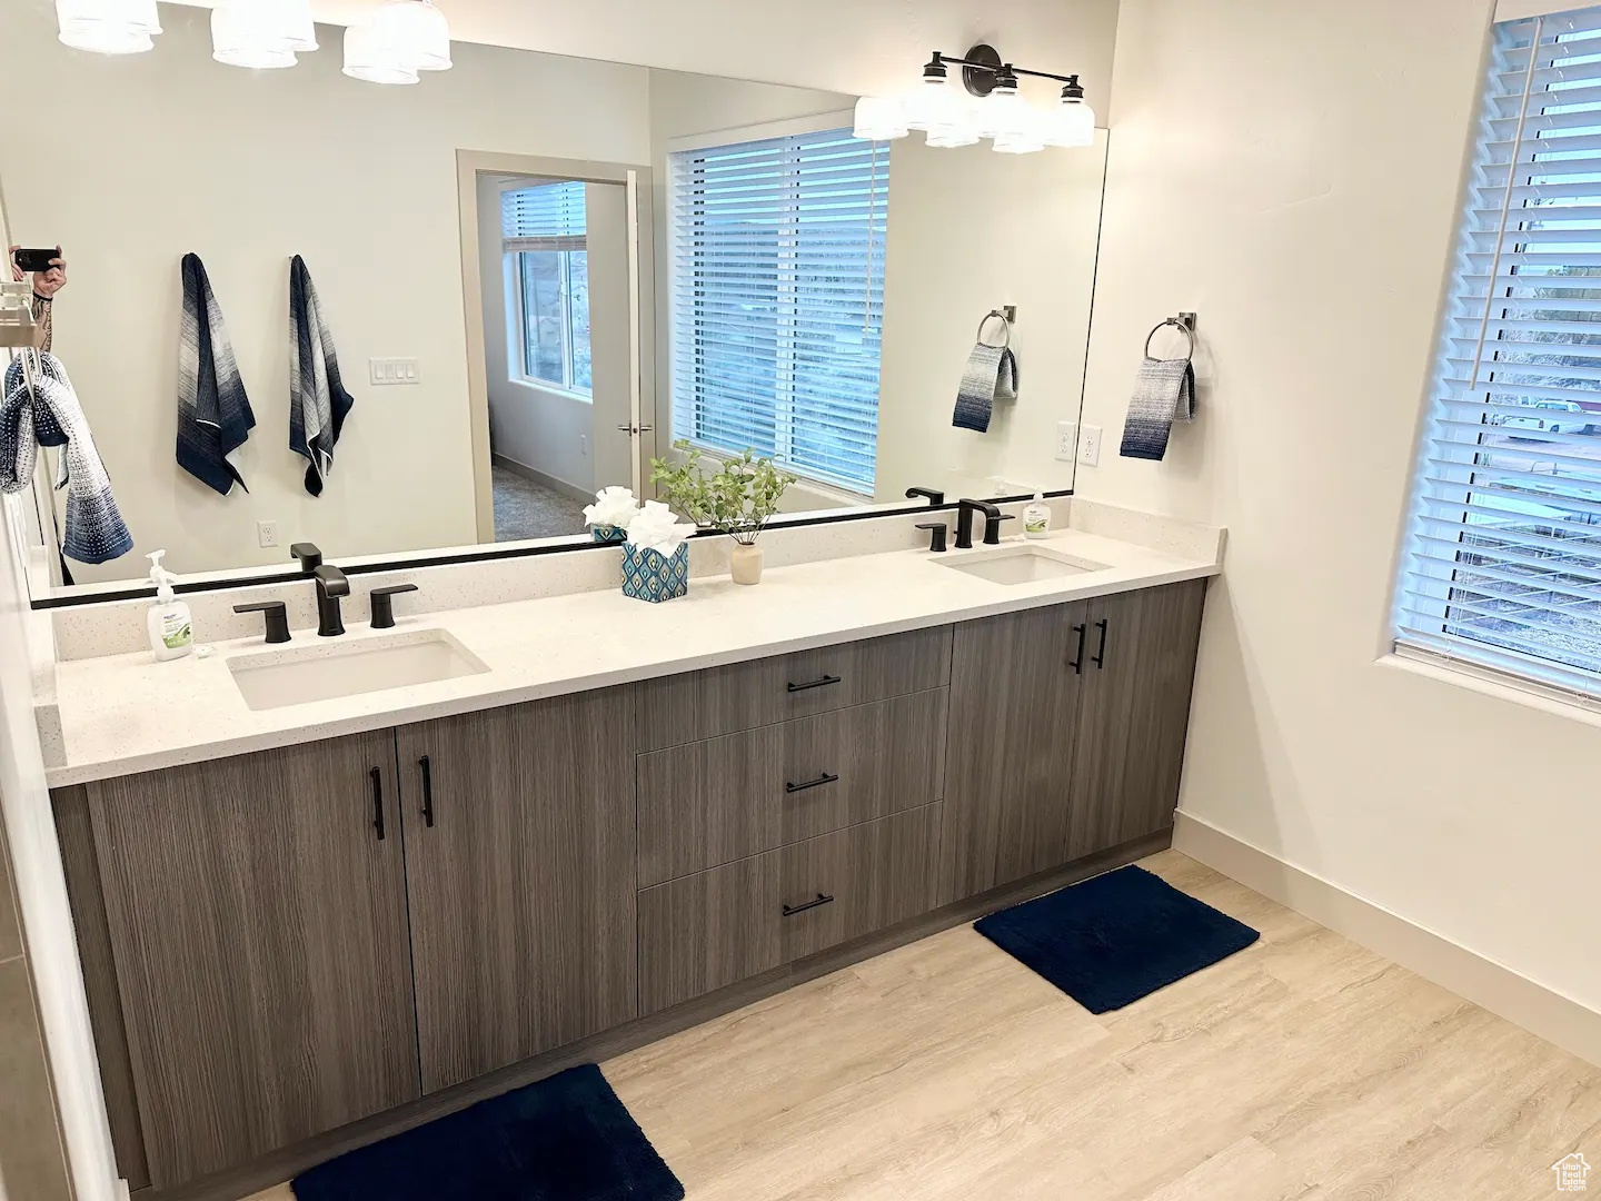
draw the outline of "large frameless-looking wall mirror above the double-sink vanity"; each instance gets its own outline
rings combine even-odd
[[[207,10],[160,19],[112,58],[62,46],[48,5],[0,14],[11,90],[40,98],[0,127],[11,237],[61,247],[51,354],[131,543],[59,554],[45,448],[6,498],[34,506],[35,602],[126,588],[155,549],[229,583],[291,570],[296,541],[331,562],[584,544],[594,492],[650,495],[685,437],[776,455],[794,514],[1073,485],[1105,131],[866,143],[853,96],[475,43],[379,86],[341,74],[333,26],[243,70],[211,59]],[[186,279],[207,320],[181,368]],[[1004,306],[1018,396],[954,428]],[[322,399],[330,354],[347,413]]]

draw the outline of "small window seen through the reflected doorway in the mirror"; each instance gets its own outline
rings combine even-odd
[[[591,396],[584,232],[584,184],[578,181],[501,192],[506,277],[522,331],[514,370],[525,380]]]

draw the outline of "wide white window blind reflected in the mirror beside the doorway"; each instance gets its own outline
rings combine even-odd
[[[871,493],[889,147],[850,130],[679,151],[674,436]]]

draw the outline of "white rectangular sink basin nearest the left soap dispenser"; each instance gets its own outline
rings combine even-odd
[[[488,671],[443,629],[234,655],[227,669],[251,709],[279,709]]]

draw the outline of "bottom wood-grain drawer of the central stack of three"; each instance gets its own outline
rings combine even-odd
[[[927,913],[938,829],[924,805],[645,889],[640,1014]]]

